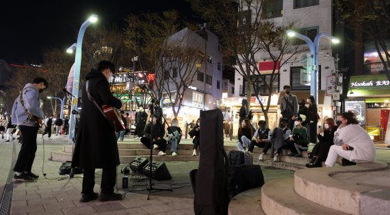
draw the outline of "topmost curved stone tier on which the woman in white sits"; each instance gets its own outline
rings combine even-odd
[[[298,170],[294,174],[294,188],[297,194],[304,199],[316,202],[333,210],[348,214],[365,214],[363,206],[367,206],[367,199],[376,202],[375,205],[390,205],[389,190],[382,190],[369,184],[346,183],[337,180],[332,175],[337,173],[365,173],[374,170],[385,170],[388,165],[382,162],[358,164],[356,166],[337,166],[333,168],[307,168]],[[373,178],[374,179],[374,178]],[[387,193],[381,197],[375,197],[373,193]],[[373,200],[375,199],[375,201]],[[381,214],[375,210],[372,214]],[[390,210],[390,208],[389,208]]]

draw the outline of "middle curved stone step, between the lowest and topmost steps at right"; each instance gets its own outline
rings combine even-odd
[[[261,207],[265,214],[345,214],[300,197],[294,191],[293,178],[275,179],[264,184],[261,188]]]

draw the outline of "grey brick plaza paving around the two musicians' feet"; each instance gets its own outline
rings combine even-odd
[[[10,214],[194,214],[194,194],[192,194],[188,174],[190,170],[197,168],[198,162],[166,162],[172,180],[154,181],[155,187],[174,188],[173,192],[153,192],[149,201],[146,200],[147,192],[140,191],[127,192],[122,201],[80,203],[82,178],[58,180],[58,178],[64,178],[58,175],[61,163],[48,160],[51,151],[61,150],[66,145],[66,136],[52,136],[52,138],[53,140],[44,141],[44,150],[42,140],[38,138],[38,151],[33,171],[40,175],[40,178],[34,182],[14,183]],[[226,141],[225,144],[235,143]],[[3,193],[11,168],[12,149],[12,142],[0,140],[0,194]],[[16,152],[19,150],[20,144],[16,143]],[[390,163],[390,150],[377,151],[378,160]],[[122,166],[125,165],[121,164],[118,167],[119,173]],[[294,172],[289,170],[265,166],[262,166],[262,170],[265,181],[294,176]],[[47,179],[44,178],[42,172],[47,173]],[[99,192],[99,174],[101,171],[97,170],[94,192]],[[120,174],[118,174],[117,181],[118,187],[121,187]],[[130,188],[145,188],[145,186],[145,180],[129,181]],[[118,192],[124,191],[119,189]]]

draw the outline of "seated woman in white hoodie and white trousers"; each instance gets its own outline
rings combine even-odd
[[[338,116],[341,125],[335,131],[335,144],[330,147],[325,165],[335,166],[337,157],[351,162],[374,162],[376,151],[374,142],[356,120],[353,112],[341,113]]]

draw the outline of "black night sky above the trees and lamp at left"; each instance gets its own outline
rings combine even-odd
[[[83,21],[90,14],[102,24],[125,26],[127,14],[178,10],[196,20],[185,0],[51,0],[1,3],[0,59],[8,63],[40,63],[42,50],[64,49],[76,42]]]

